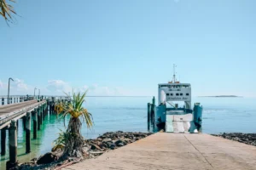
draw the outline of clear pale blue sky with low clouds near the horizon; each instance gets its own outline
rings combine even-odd
[[[0,95],[84,91],[157,95],[191,83],[192,95],[256,97],[254,0],[17,0],[0,18]],[[38,93],[38,91],[37,91]]]

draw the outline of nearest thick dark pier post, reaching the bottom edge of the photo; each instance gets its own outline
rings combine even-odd
[[[6,162],[6,169],[16,167],[17,161],[17,123],[12,120],[9,127],[9,161]]]

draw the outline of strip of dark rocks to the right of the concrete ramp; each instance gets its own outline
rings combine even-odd
[[[220,133],[212,135],[256,146],[256,133]]]

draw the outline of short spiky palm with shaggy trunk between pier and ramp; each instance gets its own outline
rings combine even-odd
[[[65,146],[62,155],[64,159],[67,156],[82,157],[84,145],[84,138],[81,134],[82,122],[85,122],[88,128],[93,125],[90,112],[83,107],[85,95],[86,92],[84,94],[73,92],[73,99],[70,103],[60,103],[56,108],[62,117],[70,116],[64,138]]]

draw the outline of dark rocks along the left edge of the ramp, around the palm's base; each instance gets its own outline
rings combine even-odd
[[[139,139],[146,138],[152,133],[132,133],[132,132],[110,132],[104,133],[96,139],[84,140],[84,159],[95,158],[96,156],[101,156],[103,153],[109,150],[115,150],[119,147],[125,146],[136,142]],[[62,151],[60,149],[52,150],[40,156],[34,158],[29,162],[22,163],[19,167],[12,169],[15,170],[25,170],[25,169],[61,169],[62,167],[67,167],[72,165],[81,159],[69,157],[68,160],[61,161],[59,157]]]

